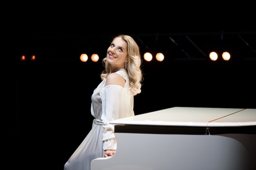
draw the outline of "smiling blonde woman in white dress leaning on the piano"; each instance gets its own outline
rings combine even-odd
[[[134,96],[141,92],[141,57],[139,47],[129,35],[114,37],[103,59],[105,70],[101,83],[92,94],[92,129],[64,170],[90,170],[91,161],[113,156],[117,139],[112,120],[134,116]]]

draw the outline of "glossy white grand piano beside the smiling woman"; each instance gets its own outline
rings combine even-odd
[[[91,170],[256,170],[256,109],[171,107],[111,124],[117,151]]]

